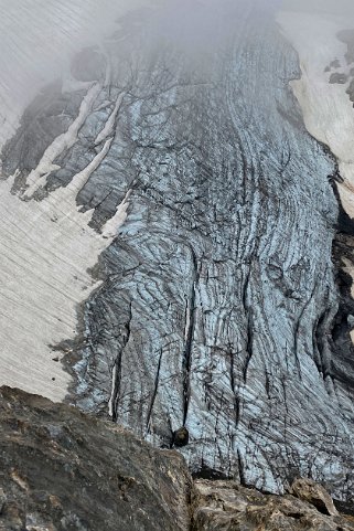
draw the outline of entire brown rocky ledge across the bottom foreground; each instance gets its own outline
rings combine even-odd
[[[0,399],[0,530],[354,530],[311,480],[286,496],[193,482],[176,452],[117,424],[10,387]]]

